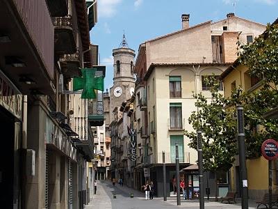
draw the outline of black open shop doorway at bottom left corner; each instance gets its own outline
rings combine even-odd
[[[13,116],[6,114],[0,107],[0,206],[10,208],[13,206],[14,194],[17,200],[17,189],[19,183],[14,185],[14,162],[15,162],[15,123]]]

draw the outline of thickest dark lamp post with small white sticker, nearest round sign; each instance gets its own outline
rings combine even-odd
[[[241,199],[241,208],[248,209],[248,184],[247,184],[247,170],[245,161],[245,133],[243,120],[243,105],[236,104],[236,111],[238,116],[238,155],[239,167],[241,173],[241,187],[243,188],[243,197]]]

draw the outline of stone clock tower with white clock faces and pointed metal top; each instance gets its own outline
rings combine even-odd
[[[113,49],[114,77],[110,88],[110,114],[120,107],[122,102],[129,100],[134,93],[135,78],[133,77],[135,51],[127,45],[123,35],[120,47]],[[113,121],[113,118],[111,118]]]

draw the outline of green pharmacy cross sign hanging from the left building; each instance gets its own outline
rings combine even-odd
[[[104,77],[95,77],[96,68],[82,68],[82,77],[74,77],[74,91],[82,90],[81,98],[97,98],[96,90],[104,91]]]

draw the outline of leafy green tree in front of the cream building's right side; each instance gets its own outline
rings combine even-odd
[[[219,82],[215,77],[206,78],[205,82],[211,87],[211,98],[193,93],[198,111],[193,111],[188,121],[195,131],[184,134],[190,139],[189,146],[197,150],[196,131],[202,130],[204,169],[227,171],[237,153],[234,110],[223,108],[230,101],[218,92]]]

